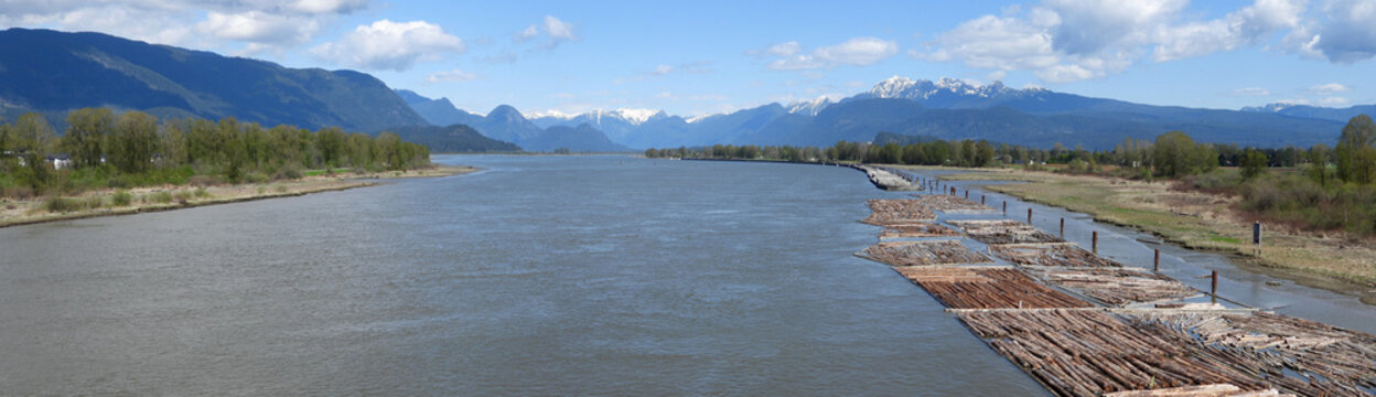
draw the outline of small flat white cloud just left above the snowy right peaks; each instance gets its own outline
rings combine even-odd
[[[854,37],[835,45],[817,47],[802,54],[794,41],[771,47],[765,54],[779,59],[769,62],[771,70],[831,69],[837,66],[868,66],[899,54],[899,44],[877,37]],[[790,54],[790,55],[783,55]]]

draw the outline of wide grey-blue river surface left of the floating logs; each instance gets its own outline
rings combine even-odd
[[[886,266],[859,172],[629,157],[0,229],[0,394],[1043,389]]]

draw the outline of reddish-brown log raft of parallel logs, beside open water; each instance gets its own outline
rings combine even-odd
[[[951,309],[1091,307],[1065,292],[1038,284],[1018,269],[904,267],[907,277]]]

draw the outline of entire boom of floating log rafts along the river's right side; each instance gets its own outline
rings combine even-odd
[[[871,200],[864,222],[885,232],[856,255],[893,266],[1058,396],[1376,394],[1376,336],[1221,305],[954,192]],[[945,229],[963,237],[922,233]]]

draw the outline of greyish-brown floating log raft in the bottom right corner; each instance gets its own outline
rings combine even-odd
[[[1271,313],[1135,313],[1196,340],[1212,361],[1303,396],[1373,396],[1376,336]]]

